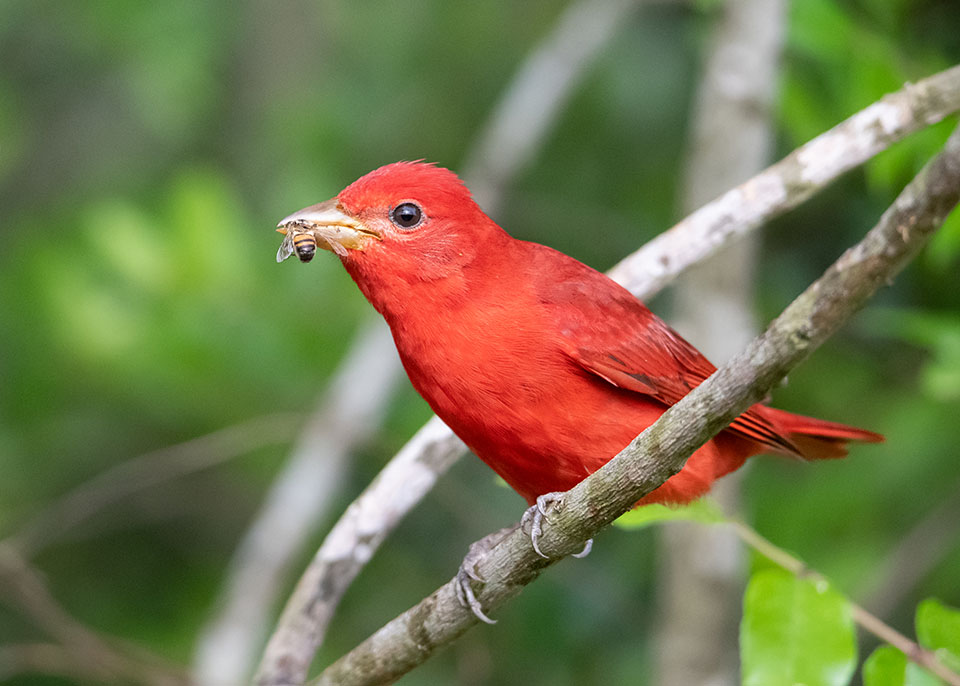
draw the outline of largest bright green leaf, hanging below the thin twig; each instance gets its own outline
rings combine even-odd
[[[745,686],[842,686],[857,664],[850,604],[826,582],[757,572],[740,624]]]

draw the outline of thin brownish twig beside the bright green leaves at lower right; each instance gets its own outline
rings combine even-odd
[[[770,561],[776,563],[779,567],[782,567],[788,572],[792,572],[800,577],[806,577],[813,581],[829,583],[829,580],[823,576],[823,574],[811,569],[802,560],[794,557],[786,550],[774,545],[743,522],[729,520],[727,523],[744,543],[749,545],[751,548],[756,550]],[[885,641],[894,648],[897,648],[900,652],[906,655],[910,661],[916,662],[921,667],[930,670],[945,682],[950,684],[950,686],[960,686],[960,674],[957,674],[956,672],[946,668],[939,660],[937,660],[937,656],[935,653],[933,653],[933,651],[927,650],[916,641],[907,638],[890,625],[884,623],[876,615],[868,612],[862,606],[857,605],[850,600],[847,600],[847,602],[850,605],[850,613],[853,616],[853,620],[861,627],[869,631],[881,641]]]

